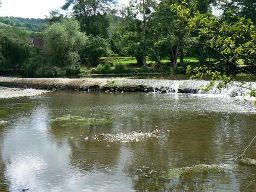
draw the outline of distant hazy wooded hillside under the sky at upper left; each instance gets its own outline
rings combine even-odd
[[[49,25],[49,21],[46,19],[22,18],[13,16],[0,17],[0,23],[34,32],[41,32]]]

